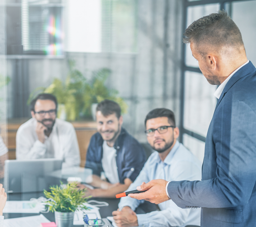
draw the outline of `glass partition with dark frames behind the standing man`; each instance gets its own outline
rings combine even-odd
[[[256,64],[256,0],[184,0],[185,29],[195,20],[225,9],[242,33],[248,60]],[[200,160],[204,158],[204,142],[217,99],[213,95],[217,86],[210,85],[193,58],[189,45],[182,46],[182,82],[180,108],[180,141]]]

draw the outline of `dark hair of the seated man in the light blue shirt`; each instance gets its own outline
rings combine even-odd
[[[168,122],[176,127],[174,112],[166,108],[156,108],[151,110],[145,118],[145,127],[148,120],[157,117],[168,117]]]

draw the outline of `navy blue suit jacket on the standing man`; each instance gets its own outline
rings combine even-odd
[[[201,207],[201,227],[256,226],[256,69],[249,62],[226,84],[205,143],[202,181],[170,182],[181,208]]]

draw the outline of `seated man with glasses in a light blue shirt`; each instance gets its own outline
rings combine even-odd
[[[165,108],[150,111],[145,119],[145,134],[155,150],[127,191],[154,179],[169,181],[201,180],[200,161],[179,141],[179,129],[174,113]],[[144,200],[121,198],[117,211],[112,214],[119,227],[129,226],[180,226],[200,225],[200,208],[182,209],[172,200],[158,204],[160,211],[136,214],[136,208]]]

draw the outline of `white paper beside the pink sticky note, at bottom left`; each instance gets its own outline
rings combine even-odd
[[[22,218],[4,219],[4,227],[40,227],[41,223],[50,222],[43,214]]]

